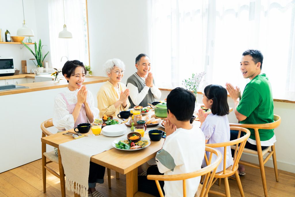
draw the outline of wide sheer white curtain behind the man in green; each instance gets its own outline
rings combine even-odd
[[[206,72],[203,87],[249,82],[240,72],[246,49],[264,55],[273,98],[295,101],[295,1],[152,0],[151,59],[161,88]]]

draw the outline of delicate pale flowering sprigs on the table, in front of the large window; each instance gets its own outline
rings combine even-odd
[[[198,105],[198,90],[199,90],[199,85],[202,81],[202,78],[204,77],[206,73],[205,72],[200,72],[200,73],[193,73],[191,75],[191,78],[185,79],[182,81],[182,85],[189,91],[193,91],[195,97],[196,97],[196,106]]]

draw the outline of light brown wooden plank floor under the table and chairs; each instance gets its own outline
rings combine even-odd
[[[58,164],[50,163],[53,169],[58,171]],[[266,167],[266,182],[268,196],[295,196],[295,174],[279,170],[279,182],[276,182],[273,168]],[[112,189],[108,188],[107,173],[104,184],[97,184],[96,189],[105,196],[126,196],[126,177],[120,175],[115,178],[111,171]],[[246,175],[240,176],[245,196],[264,196],[259,169],[246,167]],[[46,193],[43,193],[41,159],[2,172],[0,174],[0,196],[61,196],[60,181],[54,175],[47,172]],[[240,196],[235,180],[229,180],[231,196]],[[224,192],[224,184],[218,186],[215,183],[213,190]],[[67,196],[74,196],[73,192],[66,190]],[[209,194],[209,196],[215,196]]]

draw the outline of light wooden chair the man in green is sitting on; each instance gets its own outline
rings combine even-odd
[[[275,144],[273,144],[272,146],[269,146],[268,148],[261,150],[261,144],[260,144],[260,137],[259,137],[259,132],[258,129],[275,129],[276,127],[278,127],[281,124],[281,117],[278,115],[273,115],[273,121],[271,123],[266,123],[266,124],[233,124],[230,123],[230,126],[237,126],[237,127],[244,127],[244,128],[252,128],[254,129],[255,132],[255,140],[256,140],[256,144],[257,144],[257,151],[248,149],[248,148],[244,148],[244,153],[250,153],[250,154],[255,154],[258,155],[258,161],[259,161],[259,166],[253,165],[249,162],[244,162],[244,161],[240,161],[240,164],[246,165],[246,166],[250,166],[250,167],[254,167],[254,168],[258,168],[260,169],[260,173],[261,173],[261,178],[262,178],[262,185],[263,185],[263,190],[264,190],[264,196],[267,196],[267,187],[266,187],[266,178],[265,178],[265,170],[264,170],[264,164],[268,161],[268,159],[273,156],[273,168],[275,171],[275,175],[276,175],[276,181],[278,182],[278,167],[277,167],[277,163],[276,163],[276,149],[275,149]],[[235,149],[235,147],[233,146],[232,149]],[[266,158],[263,160],[263,156],[269,153]]]

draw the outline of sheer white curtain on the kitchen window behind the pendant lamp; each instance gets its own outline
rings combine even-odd
[[[63,1],[49,0],[50,53],[53,67],[62,68],[67,61],[78,59],[84,65],[89,65],[87,24],[85,23],[85,0],[64,0],[65,24],[73,38],[58,38],[63,30]]]

